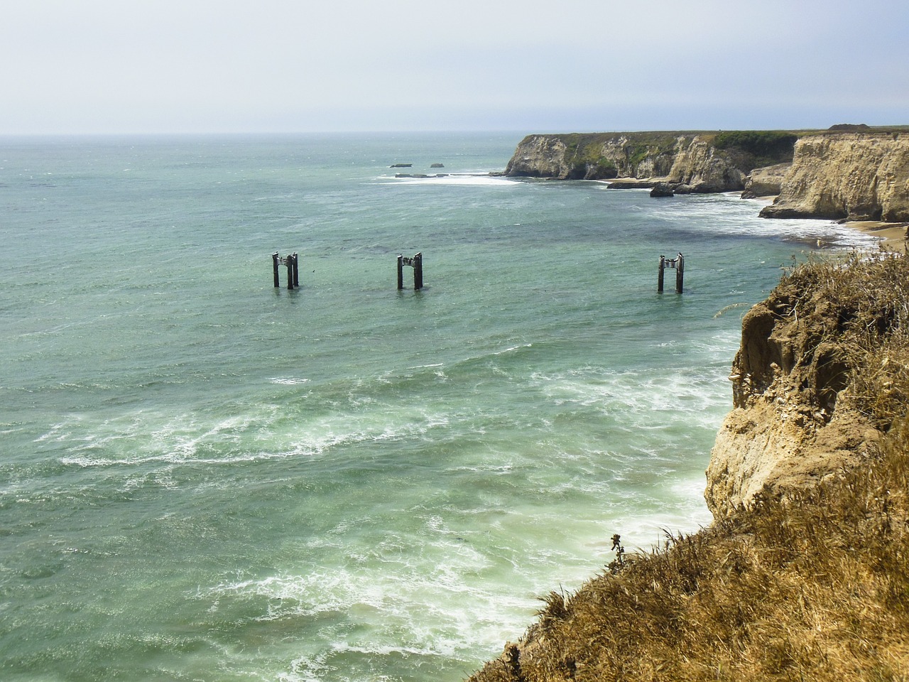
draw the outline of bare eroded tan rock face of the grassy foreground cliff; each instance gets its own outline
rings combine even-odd
[[[882,436],[854,404],[850,348],[831,333],[841,311],[778,286],[744,316],[730,379],[734,409],[716,436],[704,497],[714,517],[835,476],[870,452]],[[802,301],[804,306],[804,301]]]

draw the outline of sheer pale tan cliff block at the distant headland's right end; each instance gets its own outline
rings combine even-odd
[[[761,216],[909,220],[909,135],[828,133],[800,138],[780,194]]]

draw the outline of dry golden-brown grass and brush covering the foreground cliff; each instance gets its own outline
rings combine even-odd
[[[850,349],[874,457],[551,593],[475,682],[909,679],[909,258],[812,261],[779,288]]]

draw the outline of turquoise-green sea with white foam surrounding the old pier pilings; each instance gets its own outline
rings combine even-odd
[[[0,677],[458,680],[709,523],[746,306],[872,242],[520,137],[0,142]]]

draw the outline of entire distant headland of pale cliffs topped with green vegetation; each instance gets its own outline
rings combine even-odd
[[[909,127],[527,135],[504,175],[776,196],[766,217],[905,221]]]

